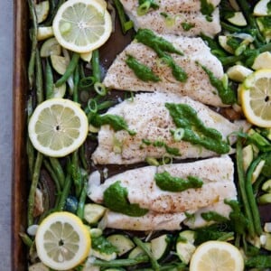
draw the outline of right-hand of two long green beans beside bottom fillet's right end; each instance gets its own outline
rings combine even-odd
[[[246,192],[248,196],[248,204],[250,206],[250,210],[251,210],[253,222],[254,222],[254,229],[257,235],[260,235],[262,233],[262,227],[261,227],[259,211],[257,208],[256,197],[254,196],[253,188],[252,188],[252,174],[254,173],[257,167],[257,164],[259,164],[261,160],[262,160],[262,157],[258,156],[257,159],[255,159],[255,161],[253,161],[252,164],[250,164],[248,168],[247,181],[246,181]]]

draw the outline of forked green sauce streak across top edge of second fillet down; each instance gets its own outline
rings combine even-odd
[[[173,77],[175,79],[181,82],[186,81],[186,72],[175,63],[173,57],[169,54],[176,53],[183,55],[182,51],[175,49],[171,42],[168,42],[164,38],[155,35],[154,32],[149,29],[139,29],[135,35],[135,39],[137,42],[141,42],[145,44],[145,46],[152,48],[157,53],[157,56],[172,69]]]

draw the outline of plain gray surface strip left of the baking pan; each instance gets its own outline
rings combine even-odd
[[[23,1],[23,0],[22,0]],[[13,1],[0,1],[0,269],[11,270]]]

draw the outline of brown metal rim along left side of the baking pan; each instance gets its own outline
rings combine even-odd
[[[14,1],[14,91],[12,180],[12,270],[27,270],[26,249],[19,237],[26,225],[27,159],[25,151],[29,15],[27,1]],[[7,180],[8,181],[8,180]]]

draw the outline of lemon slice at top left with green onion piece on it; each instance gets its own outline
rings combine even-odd
[[[112,20],[105,5],[98,1],[68,0],[58,10],[52,29],[62,47],[89,52],[107,42]]]

